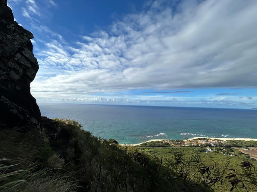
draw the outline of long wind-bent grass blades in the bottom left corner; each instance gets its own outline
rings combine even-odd
[[[35,171],[38,165],[33,164],[24,170],[17,169],[18,164],[0,159],[0,191],[1,192],[70,192],[76,191],[77,181],[71,173],[61,173],[59,169],[46,167]]]

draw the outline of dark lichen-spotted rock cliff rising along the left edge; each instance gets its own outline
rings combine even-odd
[[[8,127],[40,125],[41,114],[30,94],[39,69],[31,32],[14,21],[7,0],[0,0],[0,123]]]

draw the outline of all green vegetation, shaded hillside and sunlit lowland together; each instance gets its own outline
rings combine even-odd
[[[256,162],[231,148],[122,146],[72,119],[52,124],[42,134],[33,127],[0,131],[0,191],[256,191]]]

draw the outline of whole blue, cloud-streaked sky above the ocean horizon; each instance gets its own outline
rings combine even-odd
[[[257,1],[8,0],[38,103],[257,108]]]

